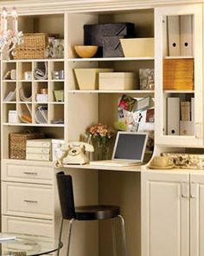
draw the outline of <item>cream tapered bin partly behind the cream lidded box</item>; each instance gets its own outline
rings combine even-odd
[[[113,69],[74,69],[79,88],[99,89],[99,72],[112,72]]]

